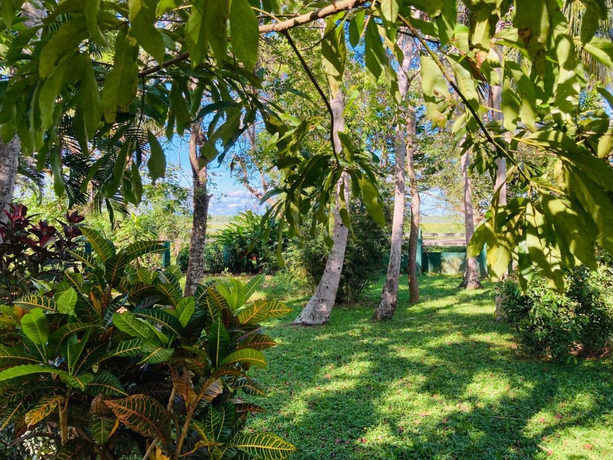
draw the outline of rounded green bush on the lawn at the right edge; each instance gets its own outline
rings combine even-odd
[[[604,267],[579,267],[566,277],[564,294],[550,290],[541,277],[525,293],[512,279],[499,283],[498,292],[506,319],[529,353],[569,361],[578,353],[598,353],[613,337],[612,280]]]

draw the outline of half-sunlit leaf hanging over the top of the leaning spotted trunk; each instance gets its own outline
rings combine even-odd
[[[324,72],[326,72],[326,78],[328,80],[330,98],[334,99],[343,86],[346,45],[345,29],[337,28],[336,21],[332,16],[327,20],[324,37],[321,40],[321,58]]]

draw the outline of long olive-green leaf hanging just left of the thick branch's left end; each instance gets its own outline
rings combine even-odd
[[[107,74],[102,90],[102,107],[107,123],[113,123],[117,112],[128,110],[136,95],[139,66],[137,56],[139,47],[134,38],[121,28],[115,39],[113,69]]]

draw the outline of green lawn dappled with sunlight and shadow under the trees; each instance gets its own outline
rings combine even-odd
[[[370,321],[379,284],[314,328],[291,326],[308,296],[264,289],[295,313],[264,324],[280,345],[254,370],[270,393],[249,426],[286,437],[296,459],[613,458],[613,359],[525,358],[493,320],[490,284],[420,282],[409,305],[403,281],[389,323]]]

